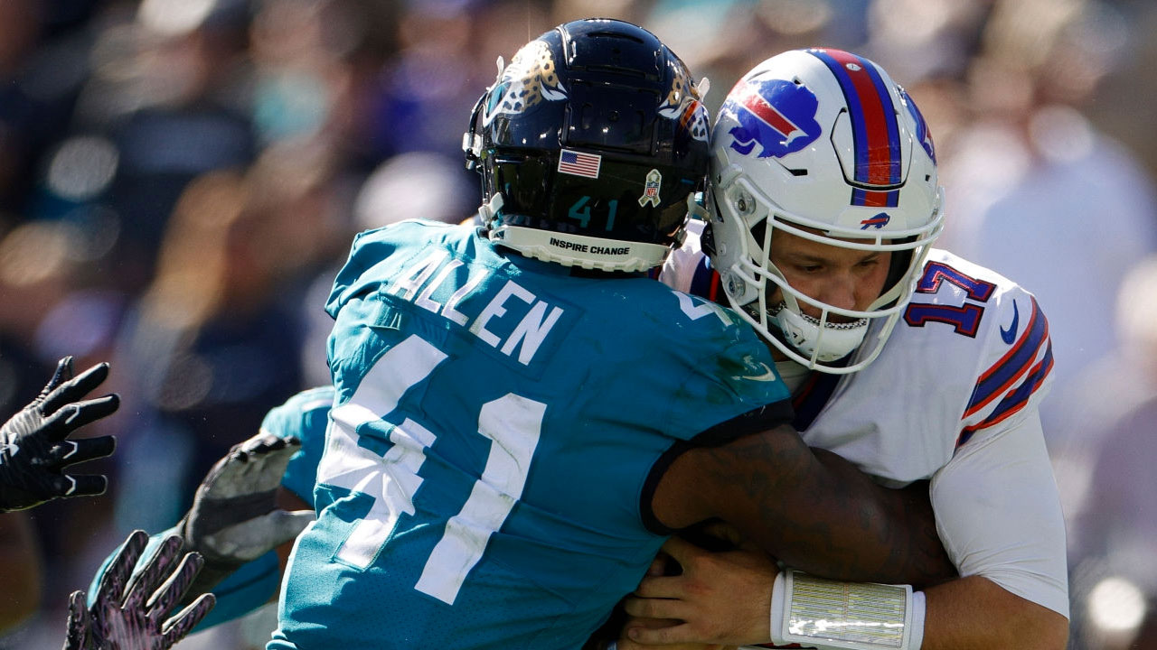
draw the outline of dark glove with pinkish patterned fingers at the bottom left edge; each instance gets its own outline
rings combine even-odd
[[[133,576],[147,544],[145,531],[128,535],[101,578],[91,607],[84,607],[84,592],[72,593],[64,650],[165,650],[209,613],[216,599],[205,593],[169,616],[204,561],[187,553],[177,564],[180,538],[170,535]]]

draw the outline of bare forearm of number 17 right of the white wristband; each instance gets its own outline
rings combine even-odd
[[[1069,635],[1061,614],[980,576],[929,588],[924,604],[922,650],[1063,650]]]

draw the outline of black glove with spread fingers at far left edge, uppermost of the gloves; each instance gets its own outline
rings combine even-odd
[[[71,475],[76,463],[112,453],[112,436],[67,440],[68,435],[120,406],[108,394],[80,401],[109,376],[100,363],[73,378],[72,357],[57,364],[40,394],[0,427],[0,512],[23,510],[62,496],[103,494],[108,479],[97,474]]]

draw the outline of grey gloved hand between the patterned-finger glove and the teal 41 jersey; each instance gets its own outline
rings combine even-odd
[[[297,537],[314,520],[312,510],[277,505],[289,458],[301,449],[296,437],[259,433],[235,445],[205,475],[193,507],[177,530],[185,545],[205,557],[192,594],[209,591],[238,567]]]

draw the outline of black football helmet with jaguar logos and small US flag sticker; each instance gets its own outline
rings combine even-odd
[[[501,66],[501,62],[500,62]],[[651,32],[591,19],[523,46],[478,101],[463,148],[489,238],[526,257],[646,271],[681,239],[708,167],[687,67]]]

